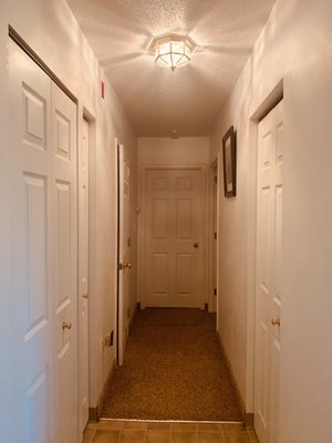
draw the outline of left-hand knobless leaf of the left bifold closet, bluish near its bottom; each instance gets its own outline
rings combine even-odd
[[[12,213],[11,443],[52,442],[51,81],[9,42]],[[8,295],[9,296],[9,295]]]

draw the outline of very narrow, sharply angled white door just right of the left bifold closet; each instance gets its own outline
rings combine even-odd
[[[89,421],[89,123],[79,147],[79,435]]]

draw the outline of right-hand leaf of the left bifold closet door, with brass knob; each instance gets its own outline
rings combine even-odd
[[[76,105],[52,83],[54,441],[77,440]]]

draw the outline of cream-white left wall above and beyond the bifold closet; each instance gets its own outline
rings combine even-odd
[[[8,71],[6,47],[8,24],[25,40],[45,64],[62,80],[77,97],[79,116],[83,107],[95,119],[91,155],[91,285],[90,285],[90,405],[95,406],[103,383],[115,359],[115,347],[105,349],[101,354],[101,340],[112,329],[115,330],[115,276],[116,276],[116,189],[115,189],[115,136],[124,143],[131,161],[133,182],[136,177],[136,138],[129,122],[113,92],[104,79],[87,41],[63,0],[2,0],[0,2],[0,136],[1,136],[1,207],[6,208],[6,150],[10,148],[6,110],[8,91]],[[101,80],[105,82],[105,100],[100,97]],[[79,140],[81,135],[79,134]],[[2,143],[3,142],[3,143]],[[3,159],[3,162],[2,162]],[[2,186],[3,182],[3,186]],[[135,184],[133,183],[132,203],[136,207]],[[4,194],[3,190],[7,193]],[[3,204],[3,206],[2,206]],[[4,212],[6,213],[6,212]],[[8,215],[10,217],[10,215]],[[1,234],[8,233],[8,218],[1,216]],[[3,230],[2,230],[3,227]],[[132,230],[134,230],[132,226]],[[136,244],[133,233],[133,245]],[[135,248],[133,248],[135,254]],[[1,251],[1,271],[10,265],[10,254]],[[136,288],[134,271],[132,285]],[[2,277],[2,276],[1,276]],[[7,279],[7,280],[6,280]],[[9,275],[3,279],[9,281]],[[10,298],[10,287],[7,297]],[[6,305],[4,315],[9,321],[11,306]],[[1,307],[1,312],[2,307]],[[2,324],[1,324],[2,327]],[[12,326],[14,327],[14,326]],[[10,328],[8,329],[10,331]],[[9,333],[9,332],[6,333]],[[2,332],[2,328],[1,328]],[[6,348],[6,333],[1,333],[1,350]],[[13,350],[11,350],[12,352]],[[2,351],[1,351],[2,352]],[[6,359],[10,364],[10,359]],[[1,358],[2,365],[2,358]],[[10,381],[9,384],[10,387]],[[2,389],[2,380],[1,380]],[[1,392],[2,394],[2,392]],[[7,392],[8,394],[8,392]],[[1,395],[2,398],[2,395]],[[8,394],[9,398],[9,394]],[[4,416],[4,415],[3,415]],[[6,422],[6,421],[4,421]],[[1,439],[0,439],[1,440]]]

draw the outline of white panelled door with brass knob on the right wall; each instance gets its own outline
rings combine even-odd
[[[279,442],[283,103],[258,127],[255,427]]]

